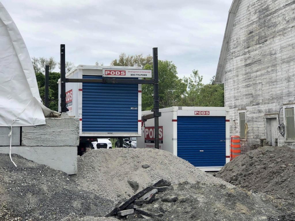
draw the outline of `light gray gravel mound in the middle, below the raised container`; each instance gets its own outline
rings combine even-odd
[[[78,171],[73,179],[81,188],[91,189],[113,201],[130,197],[136,189],[144,189],[159,179],[172,184],[203,181],[230,185],[168,151],[157,149],[92,150],[78,158]]]

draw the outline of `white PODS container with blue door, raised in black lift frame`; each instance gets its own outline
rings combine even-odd
[[[121,66],[96,66],[96,65],[78,65],[75,69],[66,74],[66,78],[101,78],[102,69],[142,69],[142,67],[121,67]],[[84,89],[83,89],[84,85]],[[94,85],[94,86],[92,86]],[[60,111],[60,80],[58,80],[58,104]],[[97,90],[96,90],[97,87]],[[136,87],[136,88],[135,88]],[[132,88],[132,91],[130,90]],[[84,95],[83,95],[84,90]],[[102,83],[66,83],[66,104],[69,109],[68,114],[80,119],[80,136],[94,136],[94,137],[136,137],[141,136],[141,85],[121,85],[121,84],[102,84]],[[130,92],[131,91],[131,92]],[[86,96],[87,92],[87,96]],[[108,93],[109,92],[109,93]],[[114,100],[114,93],[117,92],[117,100],[122,99],[121,103],[112,102]],[[93,96],[92,94],[93,93]],[[131,99],[127,93],[132,93],[135,107],[129,108],[129,112],[121,111],[120,108],[130,103]],[[84,98],[84,102],[83,102]],[[87,100],[87,102],[85,102]],[[93,110],[89,102],[93,100]],[[102,99],[102,100],[101,100]],[[110,101],[110,102],[107,102]],[[103,102],[111,103],[110,105],[103,104]],[[87,108],[85,107],[87,103]],[[101,104],[101,106],[99,106]],[[84,106],[83,106],[84,105]],[[106,111],[105,115],[95,113],[96,109],[101,108],[102,105]],[[83,124],[83,110],[84,119],[87,123]],[[121,113],[120,113],[121,111]],[[93,126],[91,126],[91,113],[93,112]],[[110,117],[108,117],[109,114]],[[136,116],[135,116],[136,113]],[[128,120],[128,116],[132,118],[132,122]],[[116,121],[118,122],[116,124]],[[134,121],[134,122],[133,122]],[[132,126],[130,126],[132,124]],[[89,126],[90,125],[90,126]],[[101,126],[99,126],[101,125]],[[109,128],[108,128],[109,125]],[[123,127],[124,126],[124,127]],[[131,128],[130,131],[126,128]],[[121,129],[119,129],[121,127]],[[116,131],[116,128],[118,130]]]

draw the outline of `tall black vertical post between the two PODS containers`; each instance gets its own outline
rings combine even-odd
[[[159,76],[158,76],[158,48],[153,48],[153,70],[154,70],[154,116],[155,116],[155,149],[159,149]]]

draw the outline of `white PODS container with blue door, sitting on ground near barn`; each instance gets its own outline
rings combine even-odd
[[[163,126],[162,147],[176,156],[188,160],[203,171],[218,171],[230,161],[229,108],[225,107],[171,107],[160,109]],[[142,111],[142,115],[152,113]],[[142,127],[138,147],[152,147],[145,142],[145,128],[154,126],[149,119]],[[152,131],[150,131],[152,133]],[[150,137],[151,134],[148,135]],[[212,159],[212,160],[210,160]]]

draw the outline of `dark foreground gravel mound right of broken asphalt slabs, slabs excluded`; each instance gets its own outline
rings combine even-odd
[[[163,199],[176,199],[167,202]],[[223,184],[183,182],[174,185],[172,190],[156,194],[156,201],[143,204],[141,210],[163,217],[151,220],[168,221],[249,221],[268,220],[269,216],[278,216],[285,212],[279,200],[273,200],[266,194],[254,194],[237,187]],[[139,220],[132,215],[128,220]]]

